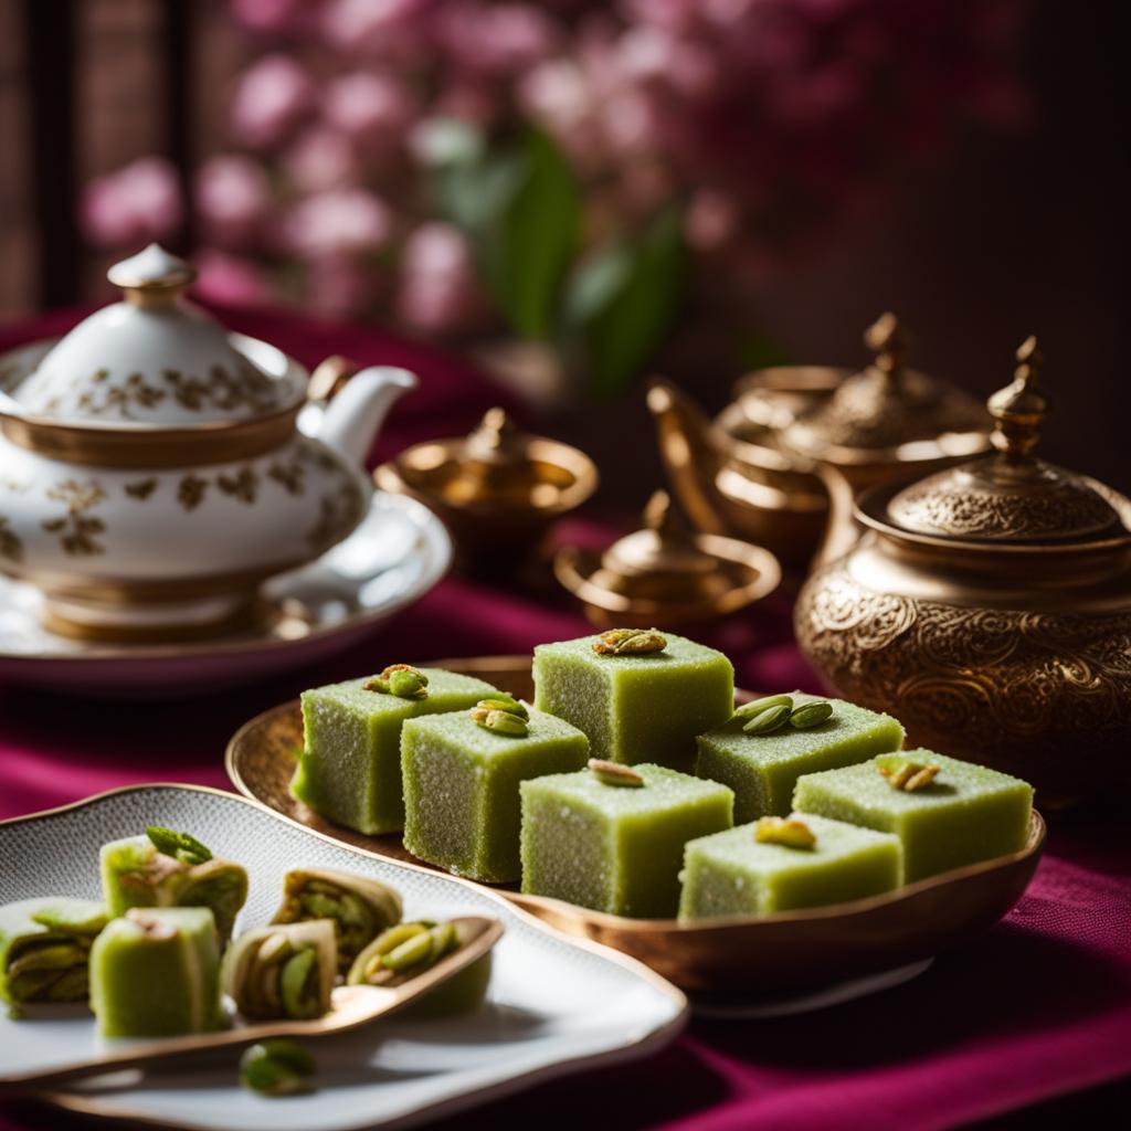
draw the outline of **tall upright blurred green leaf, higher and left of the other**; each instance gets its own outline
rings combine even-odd
[[[484,225],[480,262],[484,282],[520,335],[545,337],[577,248],[581,205],[573,171],[544,133],[530,131],[499,182],[510,195]]]

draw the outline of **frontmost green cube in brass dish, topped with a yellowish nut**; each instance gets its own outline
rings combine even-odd
[[[794,815],[813,832],[812,847],[760,844],[754,839],[757,822],[689,841],[680,918],[769,915],[898,887],[898,837],[808,813]]]

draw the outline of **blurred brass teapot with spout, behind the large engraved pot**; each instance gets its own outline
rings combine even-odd
[[[653,382],[661,457],[698,529],[766,545],[804,573],[814,554],[829,561],[855,538],[856,491],[988,447],[981,405],[907,366],[895,316],[864,342],[874,359],[857,373],[785,365],[748,374],[715,421],[675,386]]]

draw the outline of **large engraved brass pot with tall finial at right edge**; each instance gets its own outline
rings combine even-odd
[[[912,742],[1017,774],[1045,806],[1128,778],[1131,501],[1033,456],[1048,408],[1030,338],[988,402],[996,454],[862,494],[797,640]]]

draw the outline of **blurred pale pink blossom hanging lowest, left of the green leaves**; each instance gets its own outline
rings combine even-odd
[[[418,330],[455,330],[483,310],[470,245],[458,228],[432,221],[405,241],[396,312]]]

